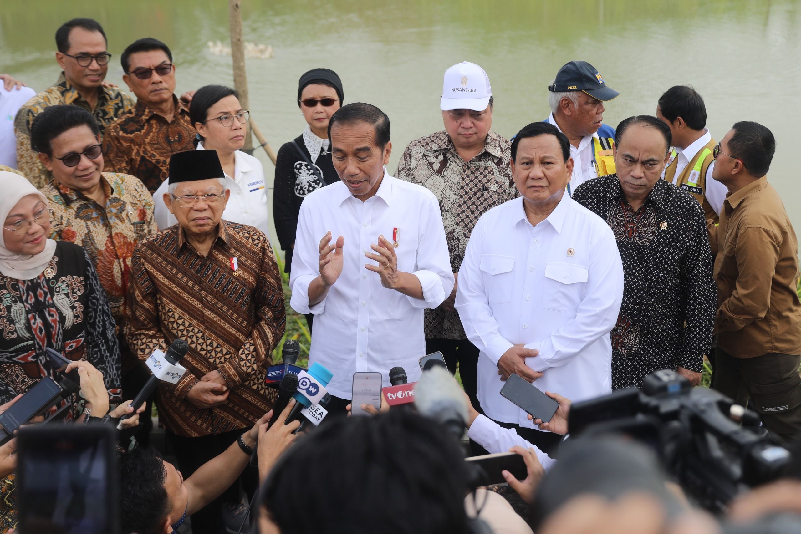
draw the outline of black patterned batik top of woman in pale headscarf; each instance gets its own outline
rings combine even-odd
[[[0,404],[45,376],[57,378],[46,347],[97,367],[111,403],[119,402],[114,319],[95,266],[73,243],[57,242],[50,265],[34,279],[0,275]],[[74,395],[69,399],[73,406],[68,416],[80,412],[83,400],[78,400]]]

